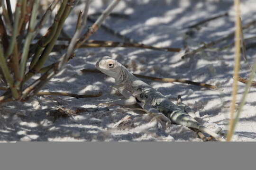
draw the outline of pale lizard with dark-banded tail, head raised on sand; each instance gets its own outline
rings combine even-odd
[[[203,133],[213,136],[218,141],[225,141],[222,136],[192,118],[184,107],[175,105],[162,93],[132,75],[117,60],[104,56],[96,62],[95,67],[102,73],[115,79],[115,87],[125,98],[100,103],[100,105],[133,105],[138,103],[146,112],[159,114],[159,116],[164,114],[171,122],[198,129]]]

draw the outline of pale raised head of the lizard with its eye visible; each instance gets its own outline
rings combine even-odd
[[[122,65],[115,59],[108,56],[102,57],[97,63],[96,68],[102,73],[117,78],[121,71]]]

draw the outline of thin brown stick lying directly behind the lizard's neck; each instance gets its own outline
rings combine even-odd
[[[102,73],[99,70],[96,69],[82,69],[82,72],[92,72],[92,73]],[[150,79],[150,80],[155,80],[155,81],[160,81],[160,82],[168,82],[168,83],[173,83],[173,82],[178,82],[178,83],[186,83],[186,84],[190,84],[190,85],[199,85],[199,86],[203,86],[203,87],[207,87],[210,89],[217,89],[217,86],[215,85],[209,85],[209,84],[205,84],[205,83],[198,83],[198,82],[193,82],[190,80],[184,80],[184,79],[176,79],[176,78],[157,78],[157,77],[152,77],[152,76],[143,76],[143,75],[138,75],[138,74],[133,74],[134,76],[140,77],[140,78],[146,78],[146,79]]]

